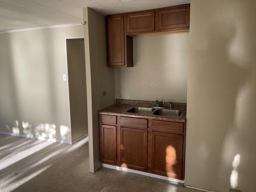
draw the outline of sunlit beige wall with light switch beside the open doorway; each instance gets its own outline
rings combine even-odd
[[[70,141],[65,38],[82,26],[0,34],[0,131]]]

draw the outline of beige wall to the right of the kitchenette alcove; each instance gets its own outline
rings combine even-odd
[[[252,0],[191,1],[187,185],[255,191],[255,7]]]

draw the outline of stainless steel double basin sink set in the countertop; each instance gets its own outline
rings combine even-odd
[[[182,116],[185,113],[185,110],[157,109],[154,107],[132,107],[126,110],[126,112],[134,113],[134,114],[146,114],[146,115],[182,118]]]

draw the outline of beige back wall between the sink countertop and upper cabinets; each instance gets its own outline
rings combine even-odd
[[[188,38],[188,33],[134,38],[134,67],[115,68],[116,98],[186,102]]]

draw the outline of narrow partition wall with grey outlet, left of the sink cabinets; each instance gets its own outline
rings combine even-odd
[[[83,8],[88,107],[90,172],[100,168],[100,129],[97,111],[114,104],[114,69],[108,68],[106,17]],[[102,91],[107,92],[102,96]]]

